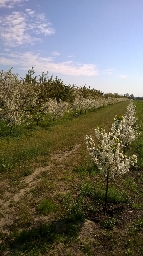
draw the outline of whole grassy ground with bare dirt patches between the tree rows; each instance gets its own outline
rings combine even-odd
[[[143,104],[134,101],[141,125],[127,154],[135,167],[109,185],[85,145],[97,125],[109,132],[128,101],[24,127],[0,126],[0,255],[143,255]]]

